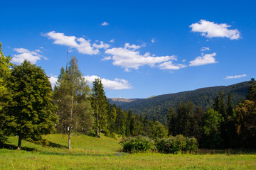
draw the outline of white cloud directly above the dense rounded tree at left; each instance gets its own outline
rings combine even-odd
[[[38,60],[41,60],[41,58],[48,60],[46,57],[38,54],[38,52],[43,53],[41,50],[30,51],[26,48],[14,48],[14,51],[19,54],[14,55],[11,61],[17,64],[21,64],[24,60],[28,60],[32,64],[35,64]]]

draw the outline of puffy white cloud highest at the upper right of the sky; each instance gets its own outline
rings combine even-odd
[[[226,23],[214,23],[206,20],[201,20],[198,23],[193,23],[191,26],[192,32],[199,32],[207,38],[229,38],[230,40],[238,40],[241,38],[240,32],[237,29],[228,29],[230,26]]]

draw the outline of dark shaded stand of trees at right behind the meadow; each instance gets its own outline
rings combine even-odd
[[[256,83],[250,81],[246,100],[233,106],[232,96],[225,101],[223,91],[212,108],[203,111],[191,101],[169,109],[169,135],[196,137],[199,146],[210,149],[256,147]]]

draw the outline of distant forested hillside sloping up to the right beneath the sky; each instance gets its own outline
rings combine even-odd
[[[223,91],[225,99],[228,99],[228,93],[230,93],[233,98],[233,104],[236,105],[238,101],[241,101],[247,96],[249,86],[249,81],[245,81],[230,86],[207,87],[176,94],[164,94],[153,98],[133,99],[134,101],[128,102],[125,102],[124,99],[119,101],[117,98],[115,100],[109,98],[109,101],[111,104],[115,103],[117,106],[121,106],[125,111],[131,110],[134,114],[147,113],[150,120],[156,117],[161,123],[165,123],[169,108],[171,106],[176,108],[181,101],[192,101],[195,106],[202,106],[203,110],[206,111],[213,106],[216,95],[220,94],[220,91]]]

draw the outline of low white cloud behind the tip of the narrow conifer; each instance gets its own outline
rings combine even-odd
[[[92,82],[95,81],[100,77],[97,77],[95,75],[92,76],[85,76],[85,80],[88,82],[89,86],[92,87]],[[102,84],[104,86],[104,89],[109,89],[109,90],[123,90],[123,89],[132,89],[132,85],[129,84],[129,82],[125,79],[114,79],[114,80],[109,80],[109,79],[101,79]]]

